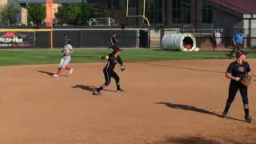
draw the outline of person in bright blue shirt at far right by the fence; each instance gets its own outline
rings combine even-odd
[[[242,49],[242,42],[243,42],[243,30],[240,30],[238,34],[234,35],[233,43],[234,49],[230,53],[230,58],[234,58],[234,53]]]

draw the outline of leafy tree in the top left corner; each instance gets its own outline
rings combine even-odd
[[[17,15],[20,12],[18,3],[10,2],[6,6],[2,6],[0,15],[3,25],[13,25],[17,22]]]

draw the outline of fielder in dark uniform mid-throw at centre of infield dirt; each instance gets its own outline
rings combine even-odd
[[[113,54],[110,54],[110,58],[108,58],[108,62],[103,69],[103,74],[105,76],[106,82],[102,84],[102,86],[100,86],[97,90],[95,90],[93,94],[100,95],[101,94],[100,91],[103,90],[106,86],[110,85],[111,78],[114,78],[115,80],[117,91],[124,92],[124,90],[120,88],[120,84],[119,84],[120,78],[118,77],[118,74],[116,74],[116,72],[114,71],[114,67],[118,63],[121,65],[121,70],[125,70],[125,67],[122,65],[122,61],[120,61],[121,58],[118,59],[121,53],[122,53],[122,50],[117,48],[116,50],[114,50]]]

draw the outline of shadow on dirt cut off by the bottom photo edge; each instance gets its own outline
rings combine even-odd
[[[207,140],[206,138],[189,137],[189,138],[167,138],[166,141],[154,142],[154,144],[220,144],[214,140]]]

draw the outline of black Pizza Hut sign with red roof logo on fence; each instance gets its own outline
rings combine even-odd
[[[31,47],[34,46],[34,33],[0,33],[0,47]]]

